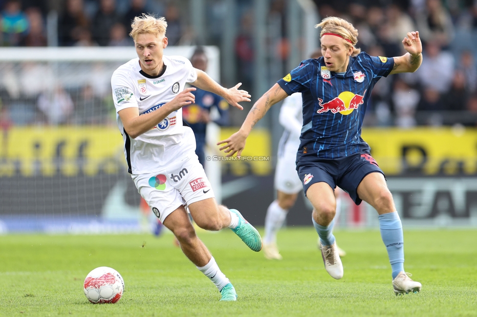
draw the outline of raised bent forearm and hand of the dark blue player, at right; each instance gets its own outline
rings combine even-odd
[[[404,49],[408,53],[394,58],[394,68],[390,74],[413,73],[422,63],[422,43],[419,32],[408,32],[408,36],[402,41]]]

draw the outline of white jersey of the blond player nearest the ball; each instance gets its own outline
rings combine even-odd
[[[131,174],[153,173],[173,161],[195,156],[194,133],[182,125],[182,109],[172,112],[136,139],[130,138],[117,114],[130,107],[138,108],[140,116],[157,110],[183,91],[187,82],[197,79],[189,59],[182,56],[163,56],[162,59],[164,69],[158,76],[143,72],[136,58],[116,69],[111,78],[116,118]]]

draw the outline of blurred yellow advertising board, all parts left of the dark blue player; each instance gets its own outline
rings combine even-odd
[[[224,139],[238,129],[223,129]],[[242,155],[270,157],[270,135],[254,130],[247,139]],[[217,155],[224,156],[223,153]],[[272,160],[222,161],[230,170],[241,175],[267,175]],[[127,169],[123,139],[117,127],[14,127],[0,134],[0,177],[13,176],[16,171],[25,177],[52,176],[61,173],[96,175],[99,171],[115,174]]]

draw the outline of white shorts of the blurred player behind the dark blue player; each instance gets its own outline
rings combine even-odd
[[[285,146],[285,149],[287,147]],[[285,194],[297,194],[303,189],[302,181],[296,170],[297,152],[284,151],[277,160],[275,170],[275,189]]]

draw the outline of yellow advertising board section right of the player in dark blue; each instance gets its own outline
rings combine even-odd
[[[476,174],[477,129],[367,128],[363,139],[387,175]]]

